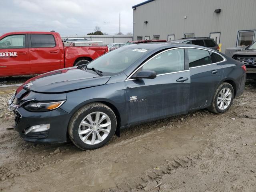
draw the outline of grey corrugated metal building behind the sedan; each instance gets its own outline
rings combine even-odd
[[[148,0],[132,8],[134,40],[210,37],[221,52],[254,42],[256,0]]]

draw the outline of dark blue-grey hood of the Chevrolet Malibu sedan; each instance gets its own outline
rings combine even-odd
[[[106,84],[110,76],[99,76],[76,67],[35,76],[22,86],[34,92],[56,93]]]

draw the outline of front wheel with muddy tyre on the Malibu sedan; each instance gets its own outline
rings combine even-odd
[[[82,150],[104,146],[116,131],[116,116],[105,104],[95,102],[80,108],[71,118],[68,134]]]

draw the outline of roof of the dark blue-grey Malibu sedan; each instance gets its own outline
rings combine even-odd
[[[130,44],[123,46],[121,48],[134,48],[134,49],[147,49],[147,50],[155,50],[155,49],[165,49],[165,48],[175,48],[175,47],[195,47],[195,48],[204,48],[207,50],[211,50],[206,47],[193,45],[193,44],[181,44],[181,43],[140,43],[140,44]],[[212,50],[211,50],[212,51]]]

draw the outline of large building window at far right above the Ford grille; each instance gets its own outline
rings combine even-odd
[[[248,46],[253,43],[255,30],[238,31],[236,46]]]

